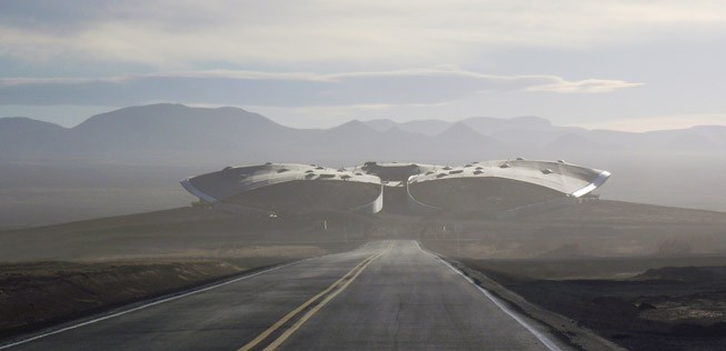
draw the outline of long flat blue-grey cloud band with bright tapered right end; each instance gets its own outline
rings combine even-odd
[[[437,104],[483,92],[601,93],[635,87],[619,80],[493,76],[452,67],[398,71],[190,71],[103,79],[0,79],[0,104],[129,106],[157,101],[268,106]]]

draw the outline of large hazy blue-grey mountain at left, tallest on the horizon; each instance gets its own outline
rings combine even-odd
[[[238,108],[168,103],[97,114],[71,129],[29,119],[0,121],[0,159],[21,160],[47,156],[107,161],[259,161],[315,133]]]

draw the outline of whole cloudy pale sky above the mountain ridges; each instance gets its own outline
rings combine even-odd
[[[726,1],[6,1],[0,117],[233,106],[291,127],[726,124]]]

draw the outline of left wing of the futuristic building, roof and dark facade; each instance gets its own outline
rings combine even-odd
[[[378,177],[315,164],[227,167],[185,179],[181,185],[217,209],[239,213],[376,213],[384,205]]]

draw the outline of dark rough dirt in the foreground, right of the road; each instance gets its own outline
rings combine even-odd
[[[708,261],[704,259],[702,263]],[[535,275],[553,275],[564,267],[561,263],[463,261],[526,301],[574,320],[626,349],[726,348],[726,267],[668,267],[619,280],[531,277],[533,271]],[[606,265],[607,261],[598,263]],[[528,265],[539,268],[533,270]],[[594,274],[601,274],[601,269],[591,267]],[[579,270],[584,273],[587,269]],[[565,269],[560,273],[571,272]]]

